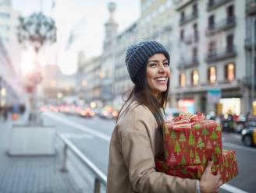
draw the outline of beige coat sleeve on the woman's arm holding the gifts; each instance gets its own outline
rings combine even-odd
[[[172,177],[155,171],[155,157],[148,135],[150,120],[135,116],[133,129],[121,138],[123,159],[130,183],[138,192],[196,192],[196,180]]]

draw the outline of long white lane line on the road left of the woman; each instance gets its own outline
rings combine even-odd
[[[98,138],[101,138],[101,139],[104,139],[105,141],[107,142],[110,142],[110,136],[108,135],[105,135],[101,132],[96,132],[96,131],[93,131],[92,128],[88,128],[88,127],[85,127],[84,125],[80,125],[78,123],[75,123],[73,121],[69,121],[68,119],[65,119],[65,118],[61,118],[59,116],[56,116],[55,114],[44,114],[44,116],[47,116],[48,118],[52,118],[52,119],[55,119],[56,121],[59,121],[61,122],[62,124],[66,124],[66,125],[70,125],[70,126],[73,126],[75,127],[76,129],[80,129],[81,131],[83,132],[87,132],[87,133],[90,133],[91,135],[94,135],[94,136],[97,136]]]

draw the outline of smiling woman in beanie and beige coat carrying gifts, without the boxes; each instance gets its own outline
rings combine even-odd
[[[162,122],[169,92],[169,53],[147,40],[128,47],[126,66],[134,87],[120,110],[108,157],[107,193],[216,192],[222,184],[208,161],[201,180],[156,172],[155,158],[164,156]]]

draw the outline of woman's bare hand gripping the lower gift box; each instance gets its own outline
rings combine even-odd
[[[222,185],[222,179],[219,172],[216,175],[212,174],[212,165],[213,161],[208,161],[207,167],[201,176],[199,183],[201,193],[218,192],[219,186]]]

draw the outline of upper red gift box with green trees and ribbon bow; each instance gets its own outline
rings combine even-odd
[[[205,164],[211,157],[220,163],[222,127],[204,114],[180,114],[165,121],[163,140],[165,161],[171,166]]]

